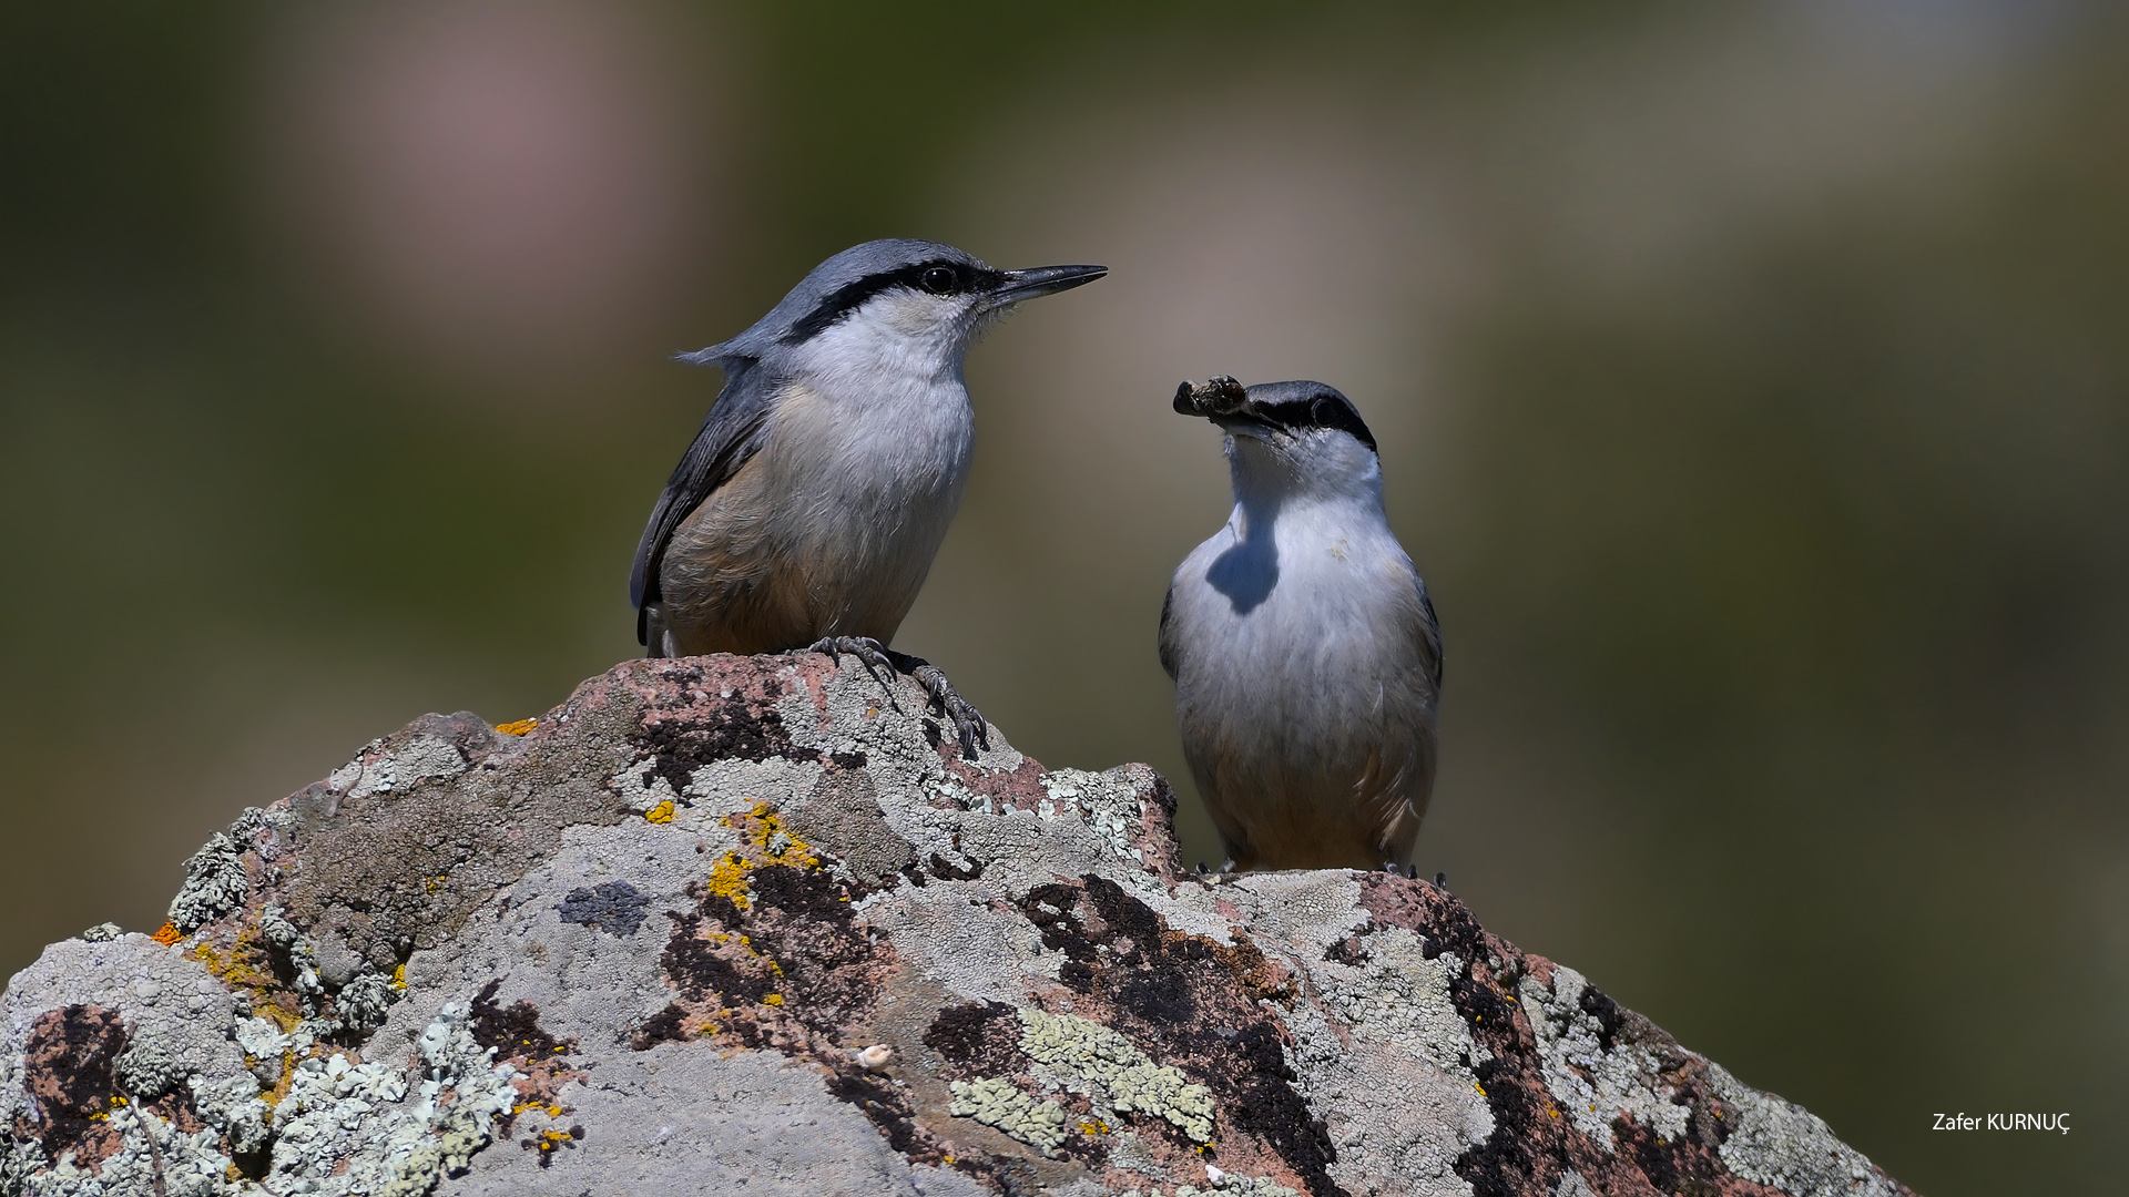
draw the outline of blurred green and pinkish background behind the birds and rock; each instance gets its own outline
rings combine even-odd
[[[973,354],[898,637],[1020,748],[1192,803],[1167,396],[1331,381],[1448,635],[1422,867],[1925,1193],[2118,1191],[2106,6],[11,4],[0,975],[632,656],[666,354],[869,236],[1113,268]]]

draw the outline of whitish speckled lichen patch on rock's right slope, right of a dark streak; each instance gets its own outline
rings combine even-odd
[[[1654,1129],[1658,1137],[1684,1135],[1693,1112],[1678,1105],[1676,1091],[1661,1080],[1658,1054],[1629,1035],[1612,1035],[1595,1012],[1584,1010],[1586,990],[1582,973],[1565,965],[1552,967],[1550,986],[1535,978],[1522,978],[1516,986],[1537,1033],[1537,1056],[1552,1099],[1578,1131],[1607,1148],[1616,1146],[1612,1120],[1620,1114]]]

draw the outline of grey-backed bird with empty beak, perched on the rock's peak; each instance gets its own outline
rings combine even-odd
[[[658,496],[628,598],[647,656],[852,652],[911,669],[962,750],[984,718],[945,673],[888,654],[975,447],[969,345],[1013,305],[1105,266],[996,270],[935,241],[869,241],[739,337],[681,354],[724,390]]]

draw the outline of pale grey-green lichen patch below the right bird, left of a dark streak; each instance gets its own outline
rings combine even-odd
[[[1492,1052],[1471,1037],[1450,982],[1463,975],[1456,952],[1426,958],[1426,944],[1403,927],[1388,927],[1367,937],[1367,961],[1360,965],[1318,965],[1318,980],[1331,1007],[1373,1039],[1412,1052],[1437,1069],[1473,1080],[1473,1065]]]

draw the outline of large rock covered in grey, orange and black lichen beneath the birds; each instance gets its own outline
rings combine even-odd
[[[1388,873],[1190,875],[1143,765],[628,662],[245,811],[0,999],[0,1197],[1905,1193]]]

